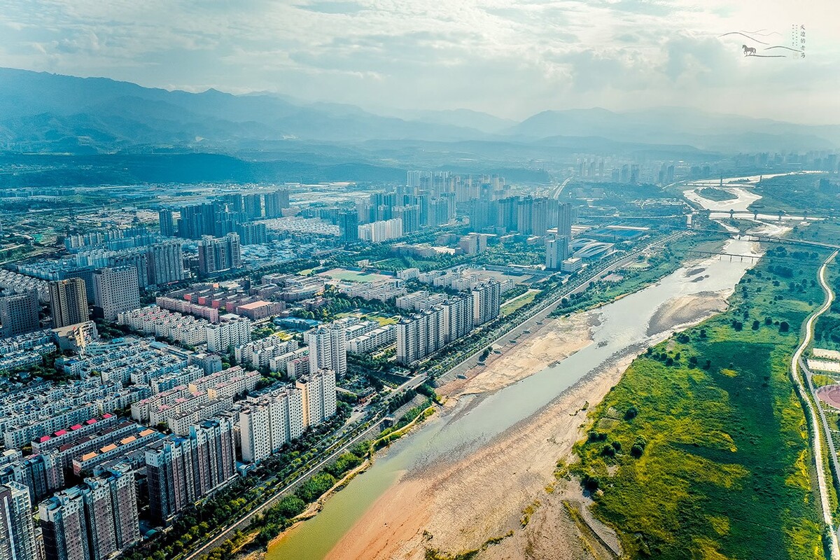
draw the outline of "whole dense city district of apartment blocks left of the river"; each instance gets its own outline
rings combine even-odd
[[[18,189],[0,558],[192,558],[257,514],[265,544],[433,407],[440,376],[593,285],[664,274],[701,212],[640,182],[659,167],[595,165],[572,185]],[[663,164],[659,183],[716,172]]]

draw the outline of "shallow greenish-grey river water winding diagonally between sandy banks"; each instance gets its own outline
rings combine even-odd
[[[726,253],[754,253],[748,241],[730,240]],[[270,560],[320,560],[366,510],[402,476],[454,461],[537,413],[587,374],[610,362],[628,348],[642,350],[663,333],[648,335],[651,317],[660,306],[681,296],[732,290],[750,259],[711,258],[688,269],[676,270],[657,284],[601,307],[601,324],[593,328],[593,343],[559,364],[549,365],[513,385],[486,395],[470,395],[453,409],[428,421],[411,435],[391,445],[374,465],[345,489],[327,500],[310,521],[288,531],[270,548]],[[703,269],[698,272],[698,269]],[[689,274],[690,273],[690,274]]]

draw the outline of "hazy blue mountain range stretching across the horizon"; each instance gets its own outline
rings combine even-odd
[[[270,93],[170,92],[0,68],[0,151],[7,155],[207,152],[285,161],[290,169],[349,164],[475,170],[562,161],[572,154],[702,161],[737,152],[840,146],[840,126],[673,107],[544,111],[521,123],[466,109],[382,113]]]

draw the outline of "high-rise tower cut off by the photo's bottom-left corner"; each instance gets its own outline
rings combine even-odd
[[[0,484],[0,560],[39,557],[29,489],[23,484]]]

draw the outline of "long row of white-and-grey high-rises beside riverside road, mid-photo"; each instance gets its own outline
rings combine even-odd
[[[501,285],[487,280],[396,323],[396,361],[411,365],[499,317]]]

